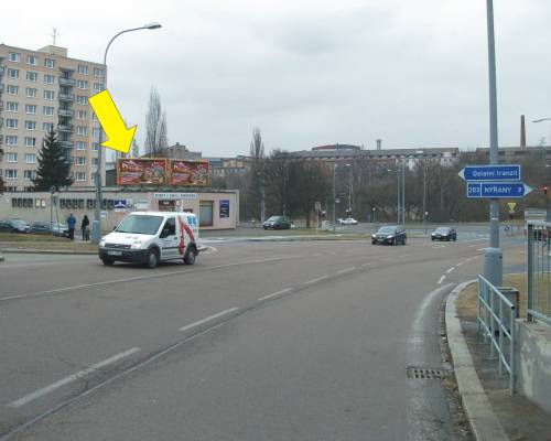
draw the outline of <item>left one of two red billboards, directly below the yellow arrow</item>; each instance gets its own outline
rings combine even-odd
[[[158,185],[165,182],[165,159],[123,158],[117,161],[118,185]]]

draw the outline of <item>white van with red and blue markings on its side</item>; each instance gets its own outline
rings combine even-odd
[[[195,263],[198,255],[197,216],[193,213],[133,212],[99,241],[104,265],[116,260],[154,268],[160,261],[183,259]]]

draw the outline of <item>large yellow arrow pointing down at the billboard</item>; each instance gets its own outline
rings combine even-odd
[[[101,146],[108,149],[118,150],[122,153],[128,153],[138,126],[127,129],[107,89],[90,96],[88,103],[98,117],[99,123],[107,136],[107,140],[101,142]]]

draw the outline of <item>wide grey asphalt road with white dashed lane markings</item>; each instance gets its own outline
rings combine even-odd
[[[437,367],[440,302],[485,245],[227,243],[154,270],[10,255],[0,440],[452,439],[439,385],[406,368]]]

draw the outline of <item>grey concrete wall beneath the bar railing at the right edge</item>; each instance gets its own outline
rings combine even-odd
[[[517,320],[517,391],[551,413],[551,326]]]

